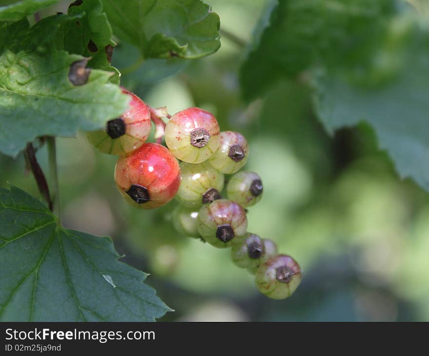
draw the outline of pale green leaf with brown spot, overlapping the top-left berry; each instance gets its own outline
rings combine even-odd
[[[38,136],[97,130],[124,112],[128,98],[108,83],[109,72],[90,70],[84,85],[71,82],[71,64],[81,59],[64,51],[0,56],[0,152],[16,156]]]

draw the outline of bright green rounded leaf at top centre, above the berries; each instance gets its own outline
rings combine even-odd
[[[115,35],[145,58],[208,56],[220,47],[219,16],[200,0],[102,0]]]

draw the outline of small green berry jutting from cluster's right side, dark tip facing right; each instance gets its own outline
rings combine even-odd
[[[263,190],[262,180],[256,173],[238,172],[228,182],[227,196],[247,208],[261,200]]]

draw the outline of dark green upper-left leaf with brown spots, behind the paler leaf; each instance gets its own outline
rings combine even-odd
[[[26,19],[0,27],[0,52],[4,48],[18,52],[37,50],[46,56],[50,52],[65,50],[91,57],[88,66],[110,71],[111,82],[119,83],[119,72],[110,65],[107,46],[112,28],[102,12],[100,0],[86,0],[69,8],[68,14],[56,14],[40,20],[31,28]]]

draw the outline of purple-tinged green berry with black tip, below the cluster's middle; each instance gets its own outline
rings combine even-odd
[[[198,214],[198,233],[208,243],[223,248],[247,232],[245,210],[236,202],[219,199],[204,205]]]

